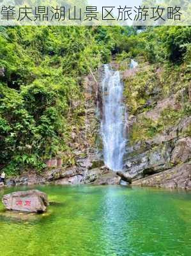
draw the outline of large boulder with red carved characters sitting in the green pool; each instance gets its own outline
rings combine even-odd
[[[34,189],[4,195],[2,202],[8,210],[24,212],[44,212],[49,205],[47,195]]]

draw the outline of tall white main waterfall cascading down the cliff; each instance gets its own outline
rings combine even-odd
[[[113,171],[123,170],[123,156],[126,145],[126,111],[123,104],[123,83],[119,71],[104,65],[101,84],[104,163]]]

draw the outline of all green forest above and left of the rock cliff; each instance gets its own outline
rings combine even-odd
[[[84,125],[84,77],[131,58],[190,74],[191,28],[0,27],[1,168],[8,175],[43,170],[59,152],[72,164],[71,132]]]

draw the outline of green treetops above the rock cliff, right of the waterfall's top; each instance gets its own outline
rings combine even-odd
[[[190,60],[190,26],[160,26],[146,29],[139,35],[121,36],[119,53],[128,52],[129,56],[144,56],[149,63],[182,63]]]

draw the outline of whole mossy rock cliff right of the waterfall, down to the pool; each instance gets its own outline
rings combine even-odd
[[[162,68],[150,68],[123,72],[130,91],[125,92],[130,117],[124,172],[133,185],[190,189],[190,79],[180,75],[181,85],[178,79],[166,85]],[[145,92],[139,94],[140,83]],[[131,97],[138,102],[134,108]]]

